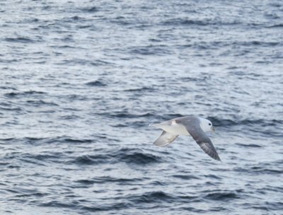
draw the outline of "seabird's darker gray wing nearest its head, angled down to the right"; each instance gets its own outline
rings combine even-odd
[[[209,156],[214,158],[217,161],[221,161],[219,158],[218,153],[216,152],[216,149],[214,148],[212,141],[209,139],[207,134],[202,130],[199,124],[195,126],[189,126],[185,125],[187,132],[190,133],[193,139],[197,142],[197,144],[200,145],[200,148],[207,153]]]

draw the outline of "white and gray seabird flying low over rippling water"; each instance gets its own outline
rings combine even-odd
[[[154,145],[167,146],[177,139],[179,135],[190,135],[207,155],[214,158],[216,161],[221,161],[212,141],[205,133],[215,132],[212,122],[209,120],[202,117],[187,116],[150,125],[163,129],[161,136],[154,141]]]

